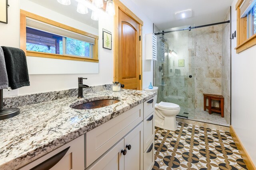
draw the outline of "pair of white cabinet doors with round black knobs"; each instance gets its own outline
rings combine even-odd
[[[142,170],[142,136],[143,123],[140,123],[86,170]]]

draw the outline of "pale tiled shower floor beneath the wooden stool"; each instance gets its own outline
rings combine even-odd
[[[221,117],[220,113],[213,112],[212,114],[209,114],[208,111],[185,108],[185,109],[180,109],[180,113],[178,115],[188,116],[188,119],[202,121],[205,123],[213,123],[213,124],[222,125],[222,126],[230,126],[226,122],[225,118]]]

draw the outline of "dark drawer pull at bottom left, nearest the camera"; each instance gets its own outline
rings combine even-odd
[[[61,152],[50,157],[49,159],[45,160],[41,164],[38,164],[34,168],[31,168],[30,170],[49,170],[50,168],[54,167],[54,165],[56,165],[63,158],[63,156],[65,156],[65,154],[66,154],[66,152],[68,152],[69,148],[70,147],[62,150]]]

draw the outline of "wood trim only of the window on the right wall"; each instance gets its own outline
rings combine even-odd
[[[237,14],[237,47],[236,53],[241,53],[242,51],[249,49],[250,47],[256,45],[256,34],[252,37],[247,38],[247,17],[240,18],[240,5],[243,0],[238,0],[236,3],[236,14]]]

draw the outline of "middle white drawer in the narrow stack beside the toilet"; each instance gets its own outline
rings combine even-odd
[[[144,151],[147,149],[148,145],[154,140],[154,111],[144,119]]]

